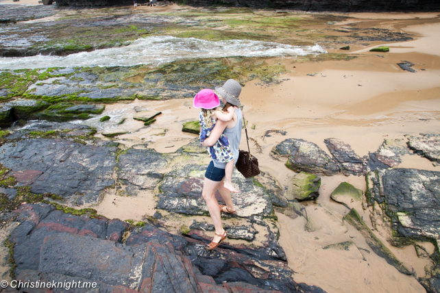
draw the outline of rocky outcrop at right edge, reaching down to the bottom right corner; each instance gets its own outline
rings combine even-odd
[[[367,176],[367,199],[378,203],[382,214],[391,221],[395,245],[413,240],[431,241],[437,249],[426,277],[419,278],[428,292],[440,292],[440,172],[393,168],[371,172]]]

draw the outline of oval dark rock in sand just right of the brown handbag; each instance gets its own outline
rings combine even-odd
[[[306,140],[289,138],[277,146],[272,153],[274,157],[287,157],[286,167],[295,172],[332,176],[340,172],[337,164],[319,146]]]

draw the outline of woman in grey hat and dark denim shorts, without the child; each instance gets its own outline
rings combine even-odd
[[[239,95],[241,93],[241,86],[238,81],[229,79],[223,84],[223,86],[217,86],[215,88],[223,99],[225,107],[223,111],[228,107],[234,107],[234,116],[232,120],[224,122],[217,120],[217,123],[212,129],[211,134],[201,144],[204,146],[212,146],[217,142],[221,133],[223,133],[230,142],[232,153],[234,154],[234,164],[239,157],[239,145],[241,140],[241,125],[243,123],[243,114],[241,113],[241,105],[239,101]],[[224,187],[223,177],[225,177],[226,163],[218,162],[217,160],[211,160],[208,168],[206,169],[203,190],[201,195],[208,205],[208,211],[214,222],[215,235],[212,238],[212,242],[208,244],[206,249],[212,250],[217,248],[219,244],[225,240],[227,234],[221,225],[220,213],[225,212],[229,214],[235,214],[236,209],[232,203],[231,192]],[[223,201],[226,205],[219,205],[217,199],[215,199],[215,192],[219,190]]]

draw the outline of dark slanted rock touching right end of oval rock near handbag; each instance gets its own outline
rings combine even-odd
[[[354,153],[350,144],[346,144],[337,138],[326,138],[324,142],[333,155],[334,161],[339,163],[343,175],[363,175],[362,158]]]

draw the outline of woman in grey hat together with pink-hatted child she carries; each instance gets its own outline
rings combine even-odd
[[[232,164],[235,164],[236,159],[239,157],[241,127],[243,123],[243,114],[238,107],[241,105],[239,101],[241,93],[239,82],[229,79],[223,86],[217,86],[215,90],[219,92],[223,103],[225,103],[222,111],[206,111],[212,110],[219,105],[219,99],[212,91],[211,93],[209,90],[205,90],[204,93],[200,94],[204,91],[202,90],[194,99],[195,107],[205,109],[201,111],[201,127],[205,127],[205,129],[201,129],[201,138],[203,137],[201,144],[207,147],[217,145],[210,149],[211,162],[206,169],[204,187],[201,192],[215,227],[215,236],[212,242],[208,244],[206,248],[208,250],[217,248],[227,237],[223,225],[221,225],[220,213],[235,214],[236,212],[232,203],[231,191],[237,192],[237,190],[232,186],[230,179],[232,177]],[[230,118],[231,116],[232,118]],[[216,118],[217,120],[215,120]],[[210,121],[211,127],[214,125],[212,129],[208,127]],[[203,131],[206,131],[206,133],[203,133]],[[208,135],[206,135],[207,133]],[[225,182],[223,182],[223,178],[225,178]],[[217,190],[219,190],[226,205],[219,205],[217,199],[215,199],[215,192]]]

